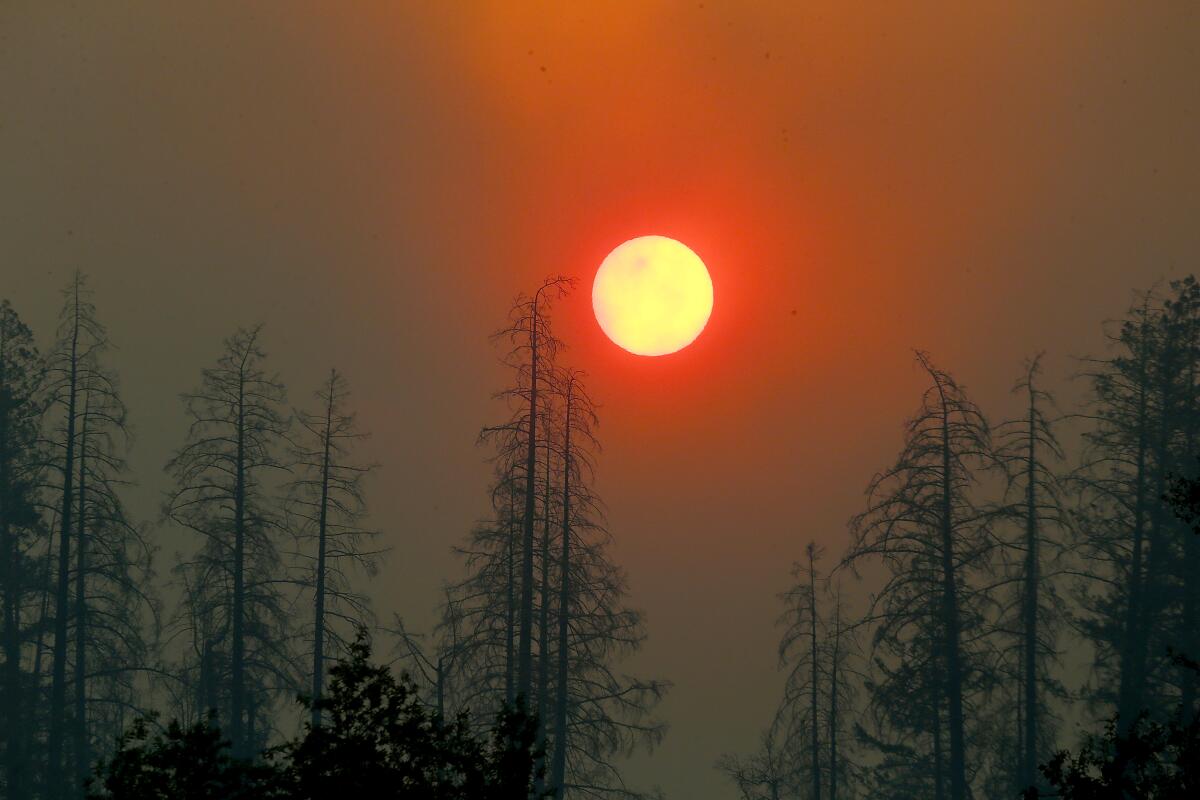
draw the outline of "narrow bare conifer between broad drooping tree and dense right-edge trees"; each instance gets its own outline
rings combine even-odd
[[[1057,657],[1063,606],[1057,593],[1057,564],[1069,527],[1056,467],[1066,455],[1055,434],[1055,421],[1048,416],[1054,398],[1039,383],[1040,363],[1040,354],[1031,359],[1013,387],[1024,401],[1021,416],[996,429],[998,455],[1009,476],[1004,511],[1020,528],[1016,540],[1008,543],[1016,558],[1007,576],[1012,600],[1001,622],[1015,644],[1004,649],[1016,656],[1015,663],[1008,660],[1006,664],[1018,688],[1012,705],[1018,745],[1016,774],[1012,775],[1015,780],[1008,787],[1012,792],[1037,782],[1038,764],[1054,741],[1048,694],[1063,694],[1051,676],[1051,667]]]

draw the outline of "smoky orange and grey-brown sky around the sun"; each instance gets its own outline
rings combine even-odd
[[[1021,360],[1100,349],[1200,251],[1200,16],[1178,4],[6,2],[0,296],[42,342],[90,272],[137,432],[139,511],[176,396],[239,324],[306,402],[352,381],[384,464],[383,616],[432,619],[485,512],[487,336],[544,275],[602,403],[599,488],[672,723],[630,777],[766,724],[776,593],[835,557],[929,349],[992,415]],[[694,345],[638,359],[590,312],[620,241],[708,264]],[[180,545],[164,539],[160,572]]]

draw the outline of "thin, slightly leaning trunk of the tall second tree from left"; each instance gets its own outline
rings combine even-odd
[[[66,723],[67,606],[71,575],[71,515],[74,498],[76,389],[79,378],[79,276],[74,285],[74,319],[71,331],[71,365],[67,380],[67,439],[62,459],[62,505],[59,511],[58,590],[54,599],[54,675],[50,679],[50,733],[46,753],[46,788],[50,800],[62,798],[62,735]]]

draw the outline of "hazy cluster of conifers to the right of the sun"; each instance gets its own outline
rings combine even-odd
[[[1182,786],[1150,739],[1200,762],[1200,536],[1170,497],[1200,452],[1200,284],[1140,294],[1105,335],[1080,361],[1081,408],[1058,408],[1037,356],[998,423],[917,354],[926,389],[899,456],[840,558],[823,567],[809,545],[782,595],[782,697],[757,750],[718,763],[744,799],[1200,790],[1200,763],[1182,793],[1118,780],[1140,758]],[[1108,738],[1061,751],[1103,718]],[[1114,764],[1108,788],[1078,789]]]

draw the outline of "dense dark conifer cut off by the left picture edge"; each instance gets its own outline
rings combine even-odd
[[[28,800],[32,790],[30,699],[37,676],[22,660],[35,621],[29,606],[47,561],[38,507],[43,372],[31,331],[7,300],[0,301],[0,788],[11,800]]]

